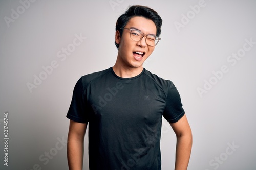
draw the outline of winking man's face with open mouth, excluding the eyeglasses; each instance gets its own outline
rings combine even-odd
[[[127,22],[125,28],[133,28],[140,30],[144,34],[156,35],[157,29],[155,23],[144,17],[133,17]],[[142,67],[143,62],[154,51],[155,46],[148,46],[146,44],[145,36],[140,41],[134,41],[130,37],[130,30],[123,29],[122,38],[120,38],[119,31],[116,31],[116,43],[119,44],[118,57],[119,64],[124,67]],[[138,53],[143,53],[138,54]]]

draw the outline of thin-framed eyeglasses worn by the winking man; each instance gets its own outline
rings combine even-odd
[[[130,37],[134,41],[140,41],[145,36],[146,44],[148,46],[156,46],[159,40],[161,39],[153,34],[144,34],[137,29],[132,29],[132,28],[120,28],[120,29],[130,30]]]

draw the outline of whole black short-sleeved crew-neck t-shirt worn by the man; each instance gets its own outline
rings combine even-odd
[[[146,69],[121,78],[111,67],[78,80],[67,117],[89,123],[90,169],[159,170],[162,116],[174,123],[183,115],[171,81]]]

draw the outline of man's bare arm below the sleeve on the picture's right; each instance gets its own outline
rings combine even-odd
[[[170,126],[177,137],[175,170],[186,170],[192,148],[192,133],[186,115],[178,122],[170,123]]]

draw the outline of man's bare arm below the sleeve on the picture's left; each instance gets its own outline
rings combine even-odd
[[[81,170],[83,164],[84,135],[87,124],[70,120],[68,134],[68,164],[70,170]]]

